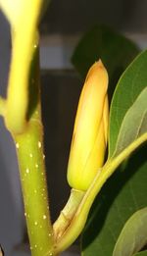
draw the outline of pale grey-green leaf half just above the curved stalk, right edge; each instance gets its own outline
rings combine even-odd
[[[135,139],[147,132],[147,87],[141,91],[126,112],[118,136],[115,156]]]

